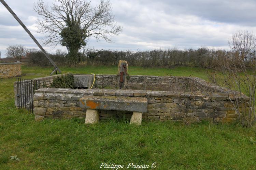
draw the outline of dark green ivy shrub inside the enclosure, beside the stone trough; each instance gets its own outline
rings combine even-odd
[[[74,88],[74,76],[71,73],[61,75],[53,79],[52,88]]]

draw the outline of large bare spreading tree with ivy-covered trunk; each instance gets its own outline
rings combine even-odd
[[[108,35],[118,35],[123,28],[115,22],[109,0],[101,0],[96,7],[82,0],[56,0],[48,6],[42,0],[34,6],[43,19],[38,19],[38,32],[46,33],[45,45],[66,46],[72,60],[86,46],[89,37],[103,38],[111,42]]]

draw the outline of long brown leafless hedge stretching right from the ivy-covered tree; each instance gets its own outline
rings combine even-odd
[[[225,53],[225,50],[220,50]],[[173,66],[196,66],[210,67],[218,57],[216,50],[207,48],[185,49],[177,48],[150,51],[110,51],[88,49],[81,61],[87,65],[118,65],[119,60],[125,60],[129,66],[142,67],[173,67]]]

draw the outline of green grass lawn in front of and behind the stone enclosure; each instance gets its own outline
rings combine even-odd
[[[60,68],[63,73],[115,74],[117,67]],[[50,68],[22,67],[23,78],[49,75]],[[202,68],[144,69],[130,75],[177,75],[207,79]],[[256,130],[237,124],[126,120],[85,125],[84,120],[35,122],[14,106],[13,82],[0,79],[0,169],[98,169],[102,163],[151,165],[156,169],[256,169]],[[251,141],[251,139],[253,141]],[[20,161],[10,160],[17,155]],[[148,168],[151,169],[151,168]]]

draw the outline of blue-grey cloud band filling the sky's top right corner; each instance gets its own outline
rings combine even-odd
[[[144,4],[148,1],[143,0]],[[255,26],[255,0],[150,1],[150,6],[169,14],[196,15],[216,22]],[[156,7],[157,6],[157,7]]]

